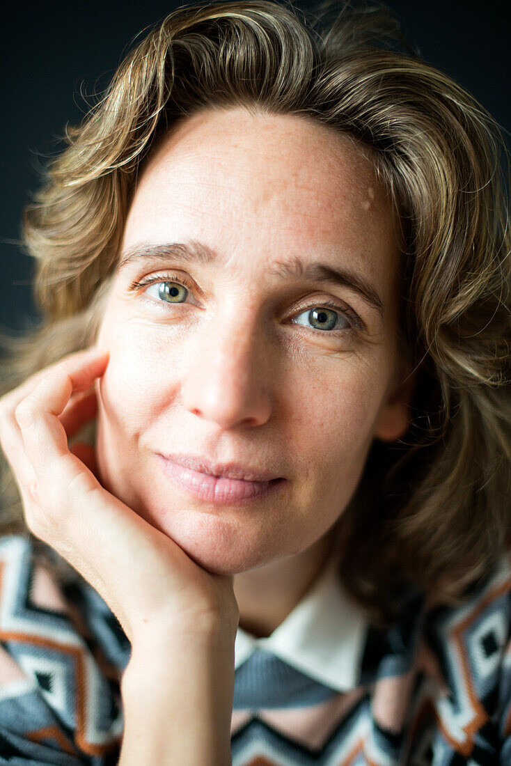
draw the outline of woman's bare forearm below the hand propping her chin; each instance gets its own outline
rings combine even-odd
[[[121,694],[122,766],[231,764],[234,640],[180,633],[134,643]]]

